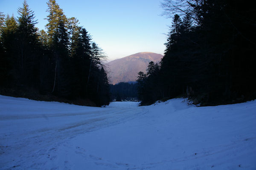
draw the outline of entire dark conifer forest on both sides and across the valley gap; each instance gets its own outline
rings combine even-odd
[[[136,96],[142,105],[186,96],[201,106],[256,98],[254,6],[163,0],[172,25],[162,61],[139,72],[137,84],[111,86],[112,95],[102,49],[55,0],[47,6],[45,31],[26,0],[18,17],[0,12],[0,94],[94,106]]]

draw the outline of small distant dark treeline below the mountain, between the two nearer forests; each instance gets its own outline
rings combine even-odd
[[[137,99],[137,83],[120,82],[118,84],[110,85],[111,100],[133,100]]]

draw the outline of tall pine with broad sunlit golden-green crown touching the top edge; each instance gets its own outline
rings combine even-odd
[[[67,72],[69,71],[69,35],[67,33],[68,22],[63,10],[60,9],[55,0],[47,2],[48,23],[46,25],[49,37],[49,47],[52,50],[54,66],[54,80],[52,92],[62,96],[70,95]],[[70,76],[70,75],[69,75]]]

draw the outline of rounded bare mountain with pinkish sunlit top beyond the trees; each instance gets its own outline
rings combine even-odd
[[[146,72],[150,61],[158,63],[161,58],[163,58],[163,55],[153,52],[139,52],[111,61],[107,63],[109,82],[117,84],[119,82],[136,81],[138,72]]]

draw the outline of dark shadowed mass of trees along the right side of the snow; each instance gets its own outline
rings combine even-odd
[[[187,96],[195,104],[256,98],[256,9],[230,0],[164,0],[173,16],[165,55],[138,76],[142,104]],[[152,71],[151,71],[152,70]]]

